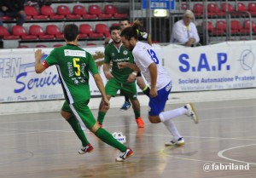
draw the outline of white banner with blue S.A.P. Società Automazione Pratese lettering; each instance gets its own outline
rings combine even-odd
[[[161,55],[172,74],[172,91],[256,87],[255,41],[196,48],[170,44]]]

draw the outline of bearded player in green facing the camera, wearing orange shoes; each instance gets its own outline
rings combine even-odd
[[[119,69],[118,67],[119,62],[134,63],[133,56],[121,43],[120,26],[111,26],[109,32],[113,42],[109,43],[105,48],[103,64],[105,77],[108,78],[105,86],[107,98],[110,100],[112,96],[117,94],[118,90],[120,90],[122,95],[128,96],[132,103],[137,127],[143,128],[144,123],[143,118],[141,118],[140,103],[137,100],[137,87],[135,83],[137,72],[130,68]],[[110,66],[111,62],[112,68]],[[107,112],[108,108],[104,107],[104,100],[102,100],[97,118],[99,124],[102,125]]]

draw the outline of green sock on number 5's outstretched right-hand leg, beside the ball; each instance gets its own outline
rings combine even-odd
[[[97,137],[99,137],[102,141],[107,143],[110,146],[113,146],[121,152],[125,152],[127,147],[123,144],[121,144],[119,141],[115,140],[111,134],[106,129],[98,129],[95,133]]]

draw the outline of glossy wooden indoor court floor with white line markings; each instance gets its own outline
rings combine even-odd
[[[166,110],[183,106],[167,104]],[[0,116],[2,178],[255,178],[256,100],[195,102],[199,123],[186,116],[173,122],[184,146],[166,147],[164,124],[137,129],[132,109],[111,108],[103,127],[120,131],[134,154],[115,162],[117,150],[85,130],[94,152],[79,155],[80,141],[58,112]],[[97,110],[93,110],[97,115]]]

